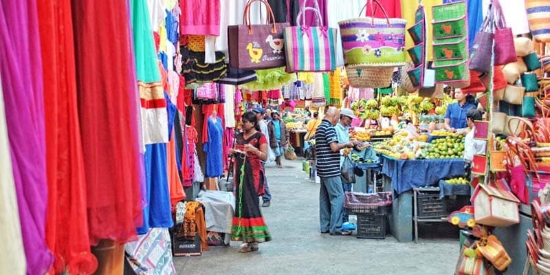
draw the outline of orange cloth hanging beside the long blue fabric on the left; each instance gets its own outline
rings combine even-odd
[[[170,204],[172,204],[172,210],[174,210],[178,201],[182,201],[186,198],[184,186],[181,185],[181,178],[179,177],[176,161],[176,144],[174,131],[172,131],[170,142],[168,142],[168,147],[166,148],[166,168],[168,169],[168,186],[170,187]]]

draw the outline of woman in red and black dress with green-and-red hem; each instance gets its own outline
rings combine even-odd
[[[243,133],[236,136],[236,148],[231,149],[236,155],[236,202],[231,235],[233,241],[243,242],[239,252],[252,252],[259,249],[258,243],[272,239],[259,206],[265,179],[262,162],[267,160],[268,145],[254,112],[245,113],[242,122]]]

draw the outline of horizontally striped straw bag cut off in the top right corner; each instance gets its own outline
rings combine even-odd
[[[525,0],[525,8],[533,40],[550,42],[550,1]]]

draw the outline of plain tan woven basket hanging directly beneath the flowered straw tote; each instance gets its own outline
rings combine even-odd
[[[346,67],[349,85],[355,88],[384,88],[391,85],[393,67]]]

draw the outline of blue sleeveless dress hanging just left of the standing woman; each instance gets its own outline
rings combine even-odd
[[[216,121],[208,118],[208,142],[203,144],[203,151],[206,153],[206,167],[204,168],[205,177],[219,177],[223,175],[223,126],[221,118]]]

